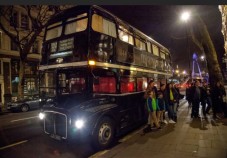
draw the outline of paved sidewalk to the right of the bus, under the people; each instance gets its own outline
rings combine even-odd
[[[200,110],[201,111],[201,110]],[[178,122],[162,130],[141,135],[141,130],[110,150],[102,158],[227,158],[227,119],[192,119],[186,101],[178,111]]]

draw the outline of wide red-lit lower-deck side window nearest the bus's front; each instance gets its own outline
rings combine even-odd
[[[116,93],[116,79],[114,77],[98,77],[94,79],[93,92]]]

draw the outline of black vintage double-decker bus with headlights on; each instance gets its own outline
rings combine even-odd
[[[147,122],[145,89],[172,75],[168,49],[99,6],[76,6],[45,29],[39,84],[44,132],[94,147]]]

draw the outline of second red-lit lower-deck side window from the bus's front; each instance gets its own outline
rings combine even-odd
[[[135,91],[135,79],[124,77],[121,78],[121,93],[129,93]]]

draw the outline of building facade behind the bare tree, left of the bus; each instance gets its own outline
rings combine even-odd
[[[20,35],[32,29],[31,22],[23,8],[17,6],[12,18]],[[0,19],[8,31],[14,32],[10,23]],[[16,35],[16,34],[15,34]],[[23,81],[24,96],[38,93],[38,64],[41,59],[42,38],[38,39],[27,57]],[[10,99],[17,98],[19,82],[20,55],[17,45],[0,29],[0,103],[3,105]]]

